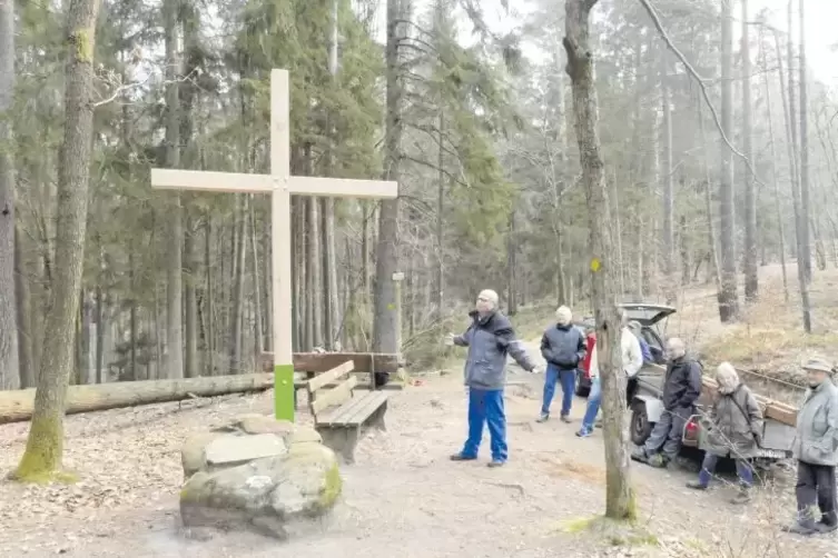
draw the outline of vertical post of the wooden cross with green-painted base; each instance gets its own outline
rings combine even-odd
[[[294,421],[290,269],[290,94],[287,70],[270,71],[270,277],[274,288],[274,412]],[[280,279],[282,278],[282,279]]]

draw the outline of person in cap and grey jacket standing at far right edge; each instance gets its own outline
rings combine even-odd
[[[797,521],[787,532],[814,535],[838,529],[835,468],[838,466],[838,388],[834,368],[821,359],[805,366],[809,389],[797,411]],[[820,519],[816,521],[816,514]]]

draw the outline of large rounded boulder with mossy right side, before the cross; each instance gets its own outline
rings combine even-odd
[[[180,492],[180,515],[189,528],[250,529],[287,538],[318,528],[342,487],[335,454],[307,441],[286,455],[197,472]]]

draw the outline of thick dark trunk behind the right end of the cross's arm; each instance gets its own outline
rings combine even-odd
[[[384,139],[384,179],[400,180],[402,142],[402,84],[398,34],[402,2],[387,0],[386,82],[387,112]],[[378,213],[378,246],[375,262],[375,312],[373,351],[398,352],[398,316],[393,275],[398,271],[398,198],[383,200]]]

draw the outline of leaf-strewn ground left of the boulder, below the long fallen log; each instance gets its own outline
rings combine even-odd
[[[234,395],[67,417],[63,464],[79,481],[0,481],[0,555],[68,554],[81,542],[118,532],[116,522],[125,518],[117,516],[125,510],[159,502],[159,510],[174,512],[171,502],[184,480],[180,447],[186,436],[245,412],[268,412],[270,397]],[[3,471],[17,466],[28,427],[0,426]]]

